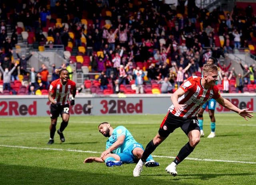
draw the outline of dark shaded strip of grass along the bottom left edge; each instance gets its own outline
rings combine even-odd
[[[54,163],[54,165],[57,165]],[[121,167],[108,168],[92,165],[78,169],[68,169],[66,166],[50,168],[39,166],[12,165],[0,163],[0,171],[8,172],[0,178],[1,184],[71,184],[71,185],[167,185],[170,179],[154,179],[154,176],[133,177],[132,171]],[[64,169],[65,168],[65,169]],[[66,169],[67,168],[67,169]],[[124,171],[123,171],[124,170]],[[176,182],[175,185],[193,185],[187,182]]]

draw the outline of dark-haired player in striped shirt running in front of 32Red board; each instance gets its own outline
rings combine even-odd
[[[72,100],[70,105],[75,104],[76,96],[76,83],[68,79],[68,70],[60,69],[59,71],[60,79],[53,81],[50,85],[48,99],[51,102],[50,108],[50,140],[48,144],[54,143],[54,134],[56,131],[56,124],[58,116],[61,114],[62,123],[60,124],[60,129],[57,133],[60,135],[60,140],[65,141],[63,131],[68,126],[69,120],[69,95],[72,94]]]

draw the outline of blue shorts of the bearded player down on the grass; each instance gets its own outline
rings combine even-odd
[[[120,161],[123,163],[138,163],[138,160],[132,154],[132,150],[134,150],[134,148],[141,148],[144,151],[144,148],[140,143],[134,143],[128,149],[124,150],[124,152],[118,153],[116,155],[120,157]],[[153,159],[153,157],[150,155],[148,159]]]

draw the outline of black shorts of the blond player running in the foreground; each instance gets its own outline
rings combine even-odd
[[[158,134],[167,138],[176,128],[181,128],[188,135],[191,130],[199,130],[197,118],[180,118],[168,112],[162,121]]]

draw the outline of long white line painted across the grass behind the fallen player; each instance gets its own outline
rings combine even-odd
[[[26,149],[36,149],[36,150],[56,150],[56,151],[68,151],[68,152],[82,152],[82,153],[94,153],[101,154],[102,152],[94,152],[94,151],[84,151],[84,150],[69,150],[69,149],[59,149],[59,148],[37,148],[37,147],[27,147],[27,146],[9,146],[9,145],[0,145],[2,147],[10,147],[10,148],[26,148]],[[152,157],[160,157],[160,158],[175,158],[171,156],[160,156],[160,155],[152,155]],[[246,161],[227,161],[227,160],[218,160],[218,159],[198,159],[198,158],[189,158],[188,160],[194,161],[216,161],[216,162],[227,162],[227,163],[247,163],[247,164],[256,164],[256,162],[246,162]]]

